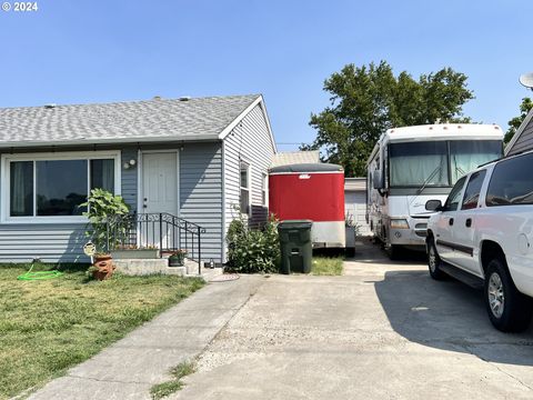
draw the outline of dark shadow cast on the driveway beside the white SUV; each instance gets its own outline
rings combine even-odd
[[[436,349],[467,352],[485,361],[533,366],[532,328],[520,334],[492,327],[481,291],[426,271],[386,271],[378,298],[399,334]]]

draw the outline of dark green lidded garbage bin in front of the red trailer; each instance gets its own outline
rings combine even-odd
[[[311,272],[313,246],[310,220],[288,220],[278,226],[281,246],[281,272]]]

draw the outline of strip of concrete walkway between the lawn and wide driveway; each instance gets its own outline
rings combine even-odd
[[[150,388],[169,380],[172,367],[199,356],[263,281],[245,276],[208,284],[30,399],[150,399]]]

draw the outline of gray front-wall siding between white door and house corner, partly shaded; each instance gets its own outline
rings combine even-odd
[[[222,144],[185,144],[180,152],[180,217],[205,228],[202,260],[222,257]]]

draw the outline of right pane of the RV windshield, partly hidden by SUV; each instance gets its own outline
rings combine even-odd
[[[452,184],[466,172],[502,157],[500,140],[456,140],[450,142]]]

